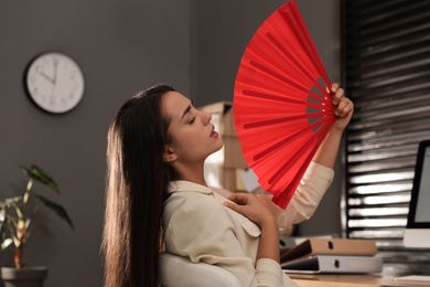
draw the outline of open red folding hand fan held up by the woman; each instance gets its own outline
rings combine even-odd
[[[331,87],[295,1],[258,28],[238,68],[234,118],[248,166],[287,208],[335,121]]]

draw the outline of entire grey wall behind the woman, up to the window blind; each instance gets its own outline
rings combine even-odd
[[[120,104],[157,82],[196,105],[232,100],[247,42],[282,2],[0,0],[0,196],[23,190],[19,164],[37,163],[60,183],[58,201],[76,226],[49,217],[29,242],[28,264],[50,268],[45,286],[101,286],[106,132]],[[298,2],[338,81],[338,0]],[[84,99],[65,115],[37,109],[22,85],[30,60],[52,50],[68,53],[85,72]],[[340,232],[340,187],[334,182],[303,232]],[[0,265],[10,264],[11,254],[1,253]]]

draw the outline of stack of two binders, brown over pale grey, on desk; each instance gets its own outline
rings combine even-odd
[[[375,241],[309,238],[281,253],[286,273],[379,273],[383,261],[376,257]]]

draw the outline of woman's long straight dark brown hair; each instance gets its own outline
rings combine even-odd
[[[163,161],[169,119],[157,85],[127,100],[107,142],[106,211],[103,234],[105,287],[158,286],[161,215],[173,178]]]

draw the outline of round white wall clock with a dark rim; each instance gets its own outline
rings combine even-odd
[[[61,114],[76,107],[85,89],[84,73],[68,55],[44,53],[30,64],[25,75],[26,89],[42,109]]]

